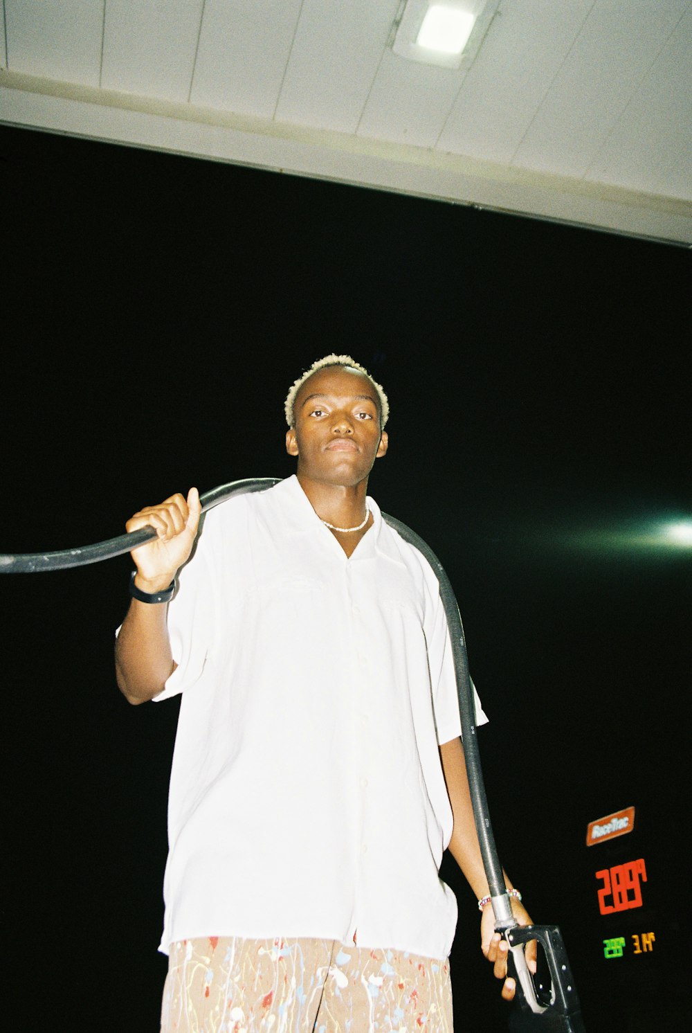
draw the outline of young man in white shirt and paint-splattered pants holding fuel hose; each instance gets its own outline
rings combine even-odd
[[[118,684],[182,693],[165,1033],[452,1029],[444,848],[487,883],[437,581],[367,495],[387,415],[363,367],[326,356],[286,399],[295,476],[199,534],[195,489],[126,525],[158,538],[132,553]],[[481,941],[505,979],[487,906]]]

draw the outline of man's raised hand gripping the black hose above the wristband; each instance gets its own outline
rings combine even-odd
[[[160,592],[168,587],[192,552],[200,513],[199,493],[191,488],[187,499],[180,493],[171,495],[158,506],[145,506],[128,520],[128,533],[149,526],[158,535],[130,553],[137,568],[134,584],[143,592]]]

